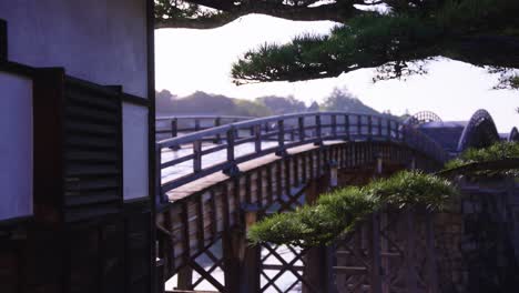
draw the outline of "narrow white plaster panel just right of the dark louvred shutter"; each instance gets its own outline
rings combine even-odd
[[[123,195],[134,200],[149,195],[147,109],[123,103]]]

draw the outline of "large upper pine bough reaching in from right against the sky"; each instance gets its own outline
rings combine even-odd
[[[248,51],[233,64],[235,82],[320,79],[372,67],[380,69],[375,80],[400,78],[426,73],[411,64],[437,55],[479,65],[518,67],[517,59],[499,54],[500,49],[510,50],[517,43],[508,38],[519,36],[517,0],[381,2],[393,12],[364,13],[348,18],[329,36],[302,36],[287,44]],[[498,41],[511,47],[489,44]]]

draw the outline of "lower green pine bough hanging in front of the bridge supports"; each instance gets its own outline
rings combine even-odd
[[[385,204],[398,209],[424,205],[441,210],[455,194],[456,189],[447,180],[420,172],[400,172],[362,188],[348,186],[323,194],[315,205],[274,214],[252,226],[247,236],[256,244],[327,244],[354,231]]]

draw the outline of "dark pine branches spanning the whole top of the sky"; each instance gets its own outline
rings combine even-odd
[[[237,84],[301,81],[378,68],[375,80],[424,74],[421,61],[447,57],[503,72],[519,88],[518,0],[156,0],[156,28],[210,29],[248,13],[332,20],[328,36],[265,44],[234,63]]]

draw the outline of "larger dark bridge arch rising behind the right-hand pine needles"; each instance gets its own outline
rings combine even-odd
[[[470,118],[458,141],[458,152],[469,148],[486,148],[499,141],[493,119],[487,110],[478,110]]]

